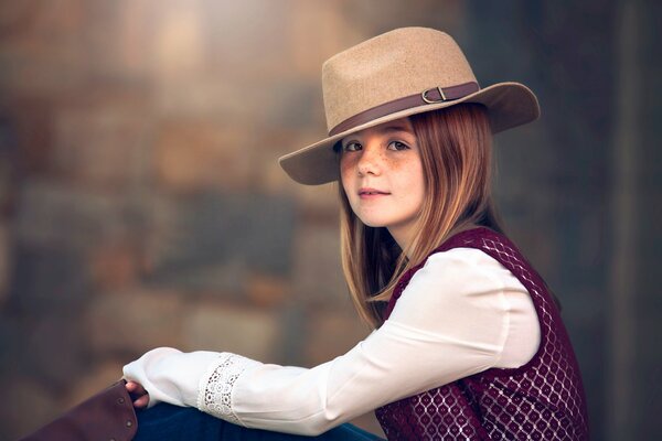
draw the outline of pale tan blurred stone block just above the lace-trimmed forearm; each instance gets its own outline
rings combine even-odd
[[[183,324],[184,347],[232,352],[269,362],[281,346],[278,316],[268,310],[201,302]]]

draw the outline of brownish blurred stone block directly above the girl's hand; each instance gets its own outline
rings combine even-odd
[[[135,290],[90,300],[85,312],[88,349],[139,356],[159,346],[181,347],[184,299],[169,291]]]

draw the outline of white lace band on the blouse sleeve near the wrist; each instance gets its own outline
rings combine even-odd
[[[232,410],[234,385],[246,368],[259,365],[259,362],[231,353],[221,353],[200,379],[197,388],[197,409],[216,418],[239,424]]]

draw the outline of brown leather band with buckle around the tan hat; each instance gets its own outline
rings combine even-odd
[[[469,94],[478,92],[480,87],[478,83],[470,82],[450,87],[433,87],[424,90],[420,94],[409,95],[404,98],[394,99],[393,101],[384,103],[375,106],[371,109],[364,110],[360,114],[350,117],[335,126],[329,132],[329,136],[341,133],[345,130],[350,130],[353,127],[361,126],[362,123],[370,122],[374,119],[385,117],[386,115],[395,114],[396,111],[410,109],[413,107],[425,106],[428,104],[450,101],[453,99],[462,98]]]

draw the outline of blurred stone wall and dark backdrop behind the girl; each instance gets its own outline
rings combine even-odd
[[[542,119],[496,139],[508,230],[563,303],[594,439],[660,433],[661,7],[0,2],[0,439],[154,346],[313,366],[366,335],[335,186],[276,161],[324,136],[322,62],[404,25],[536,92]]]

